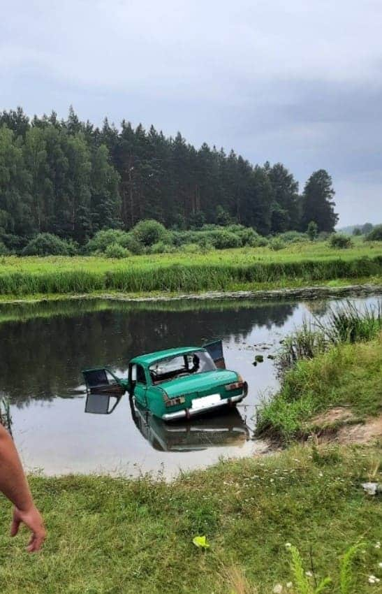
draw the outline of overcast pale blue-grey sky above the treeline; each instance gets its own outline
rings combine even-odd
[[[0,108],[332,175],[339,226],[382,222],[381,0],[0,0]]]

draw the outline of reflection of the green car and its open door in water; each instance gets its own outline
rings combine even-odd
[[[111,414],[122,395],[89,393],[85,412]],[[131,416],[135,426],[154,449],[159,451],[193,451],[208,447],[241,447],[250,439],[247,424],[236,408],[228,409],[219,416],[201,416],[189,421],[165,423],[129,399]]]

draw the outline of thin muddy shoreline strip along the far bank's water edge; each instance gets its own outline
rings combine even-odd
[[[1,300],[1,304],[10,305],[17,303],[41,303],[50,300],[66,300],[66,299],[106,299],[127,301],[131,303],[136,302],[153,302],[153,301],[179,301],[179,300],[209,300],[209,299],[254,299],[254,300],[291,300],[291,299],[321,299],[321,298],[338,298],[346,296],[367,296],[376,295],[382,292],[382,284],[348,284],[343,287],[328,287],[321,285],[312,285],[309,287],[297,287],[292,289],[269,289],[260,291],[208,291],[206,293],[186,293],[177,295],[158,294],[154,296],[138,296],[134,297],[123,293],[85,293],[85,294],[62,294],[54,296],[52,299],[39,296],[36,298],[13,298],[8,300]]]

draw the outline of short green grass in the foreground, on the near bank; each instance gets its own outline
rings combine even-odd
[[[1,506],[1,591],[243,594],[247,580],[246,592],[269,594],[293,579],[290,542],[305,570],[312,559],[316,579],[330,575],[330,592],[339,594],[339,556],[362,540],[349,594],[377,593],[367,579],[382,577],[375,548],[382,506],[360,487],[380,476],[377,456],[377,449],[293,447],[222,461],[172,484],[31,477],[48,539],[41,554],[28,556],[27,534],[8,537],[10,506]],[[196,535],[206,535],[210,549],[197,549]]]

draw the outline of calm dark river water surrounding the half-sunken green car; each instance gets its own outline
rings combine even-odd
[[[267,355],[304,317],[322,316],[331,303],[68,300],[0,306],[0,396],[10,399],[24,464],[47,474],[172,475],[220,456],[260,451],[263,444],[252,440],[256,404],[277,388]],[[166,425],[133,407],[127,394],[118,401],[84,391],[83,368],[110,365],[124,376],[137,354],[220,338],[227,367],[249,383],[237,410]],[[256,354],[264,363],[254,366]]]

